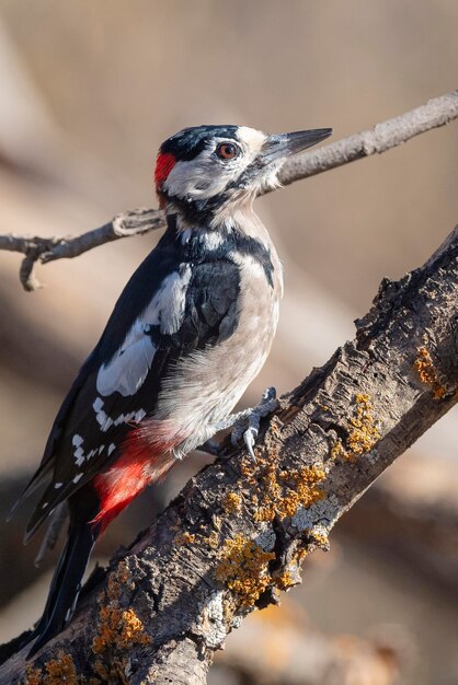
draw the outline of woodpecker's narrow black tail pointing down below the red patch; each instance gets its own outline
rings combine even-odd
[[[88,559],[96,539],[91,523],[70,522],[66,545],[59,557],[49,588],[45,611],[34,631],[33,657],[70,620],[77,605]]]

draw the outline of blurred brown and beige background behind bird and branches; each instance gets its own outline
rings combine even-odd
[[[0,0],[0,232],[77,234],[154,206],[156,150],[185,126],[333,126],[336,140],[401,114],[457,88],[457,31],[456,0]],[[458,221],[457,153],[453,124],[259,200],[286,297],[245,403],[324,362],[380,279],[434,251]],[[46,288],[32,294],[19,256],[0,254],[2,511],[157,237],[42,267]],[[456,422],[455,411],[363,498],[283,608],[244,622],[213,684],[458,683]],[[197,466],[113,524],[101,554],[128,543]],[[26,515],[0,524],[0,640],[33,623],[46,592],[45,577],[32,587],[45,572],[32,565],[37,544],[21,546]]]

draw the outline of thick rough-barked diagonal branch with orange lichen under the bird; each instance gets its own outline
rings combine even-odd
[[[93,580],[60,636],[28,666],[26,649],[2,666],[0,685],[203,685],[228,632],[300,582],[304,557],[456,404],[457,302],[458,227],[423,267],[385,280],[355,338],[282,398],[256,462],[237,450],[202,471]]]

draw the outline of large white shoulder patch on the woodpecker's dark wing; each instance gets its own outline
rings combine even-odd
[[[141,387],[156,355],[150,329],[159,326],[163,335],[171,335],[180,329],[191,276],[188,264],[182,264],[178,271],[167,276],[148,306],[134,322],[113,359],[101,365],[96,388],[103,397],[115,392],[128,397]]]

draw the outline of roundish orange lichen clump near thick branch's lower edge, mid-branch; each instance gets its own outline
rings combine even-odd
[[[273,552],[264,552],[238,533],[225,542],[215,577],[237,595],[241,606],[253,606],[272,582],[268,562],[274,558]]]

